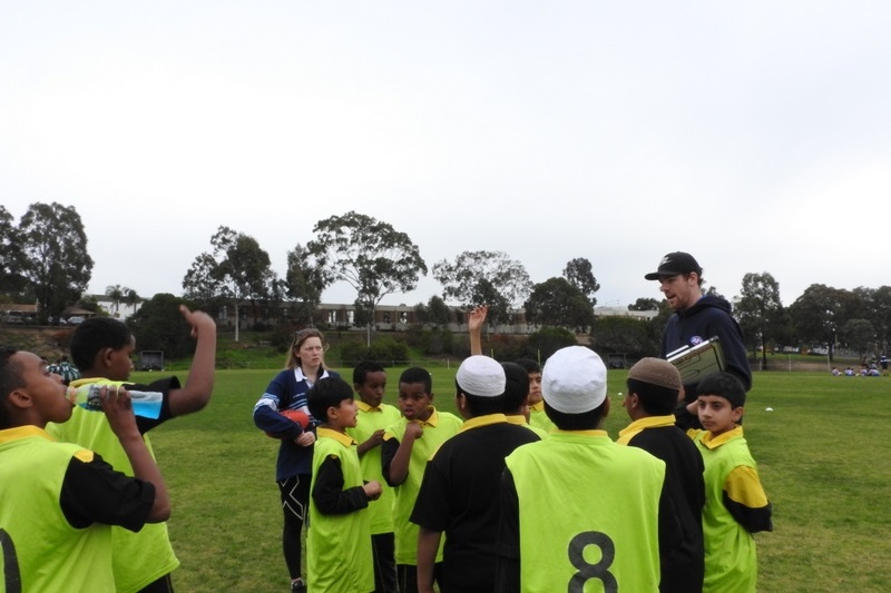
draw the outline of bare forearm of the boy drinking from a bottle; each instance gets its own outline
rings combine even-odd
[[[167,493],[167,485],[136,426],[130,396],[124,388],[118,391],[106,388],[101,403],[108,424],[130,461],[134,476],[155,486],[155,502],[146,522],[167,521],[170,516],[170,497]]]

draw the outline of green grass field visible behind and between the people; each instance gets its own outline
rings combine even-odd
[[[388,372],[390,403],[401,370]],[[434,370],[443,409],[453,409],[454,370]],[[628,423],[617,395],[625,391],[626,372],[609,373],[613,414],[606,428],[615,437]],[[151,433],[174,502],[169,528],[182,561],[174,573],[178,591],[286,591],[274,483],[277,442],[251,419],[273,374],[219,370],[205,411]],[[756,535],[760,591],[887,591],[891,378],[757,373],[746,409],[746,437],[774,505],[774,532]]]

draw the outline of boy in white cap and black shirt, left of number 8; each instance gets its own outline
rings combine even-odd
[[[540,441],[505,416],[503,367],[470,356],[458,367],[456,403],[464,424],[427,463],[411,521],[418,535],[418,590],[433,591],[433,562],[446,536],[442,593],[489,593],[495,587],[498,498],[505,457]]]

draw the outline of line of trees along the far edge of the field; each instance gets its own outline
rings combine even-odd
[[[345,281],[356,295],[355,324],[371,328],[374,310],[385,296],[413,290],[430,271],[442,285],[442,295],[415,306],[419,318],[429,324],[453,320],[447,303],[463,309],[486,303],[496,325],[509,324],[511,310],[521,308],[529,324],[590,332],[597,342],[613,336],[611,352],[647,350],[670,314],[664,302],[642,297],[628,308],[659,312],[652,322],[635,320],[654,326],[646,332],[624,322],[604,324],[596,319],[595,295],[600,285],[585,257],[567,261],[561,275],[540,283],[532,281],[522,263],[497,250],[462,251],[428,268],[408,234],[355,211],[319,220],[312,239],[295,244],[286,261],[287,269],[280,276],[255,238],[221,226],[210,237],[209,249],[197,255],[186,270],[183,297],[210,313],[226,303],[256,307],[260,303],[284,302],[288,304],[290,323],[310,325],[325,288]],[[40,323],[58,318],[75,304],[95,310],[95,304],[85,302],[92,267],[87,233],[75,207],[32,204],[16,224],[0,206],[3,300],[37,303]],[[709,291],[717,294],[715,287]],[[110,286],[106,293],[116,304],[139,298],[121,285]],[[819,344],[830,348],[830,354],[841,345],[861,357],[888,349],[889,286],[846,290],[813,284],[784,307],[780,284],[770,273],[748,273],[738,295],[730,300],[748,346],[762,356],[785,345]],[[623,344],[637,334],[631,339],[635,344]]]

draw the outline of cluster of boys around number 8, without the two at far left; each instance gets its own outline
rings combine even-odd
[[[372,363],[354,369],[355,404],[339,378],[310,391],[324,418],[310,591],[582,591],[590,580],[604,591],[755,591],[752,534],[772,530],[772,507],[740,426],[745,388],[734,375],[701,382],[687,409],[704,428],[685,434],[674,415],[677,369],[642,359],[623,401],[631,423],[614,442],[601,428],[610,403],[596,353],[564,348],[544,372],[499,364],[474,352],[473,315],[472,355],[456,376],[462,418],[433,406],[430,374],[418,367],[400,376],[399,411],[383,403],[386,374]],[[325,407],[314,404],[334,391]],[[364,518],[347,522],[350,512]]]

